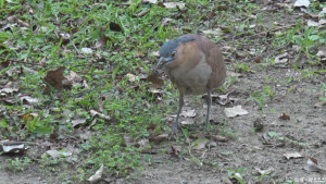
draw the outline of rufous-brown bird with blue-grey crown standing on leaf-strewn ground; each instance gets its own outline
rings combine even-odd
[[[160,60],[154,71],[163,69],[179,91],[179,107],[172,128],[173,133],[178,131],[178,119],[185,95],[208,94],[206,130],[210,122],[212,90],[223,85],[226,78],[222,51],[209,38],[187,34],[163,44],[159,53]]]

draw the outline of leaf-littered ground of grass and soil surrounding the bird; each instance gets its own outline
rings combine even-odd
[[[26,13],[32,7],[35,14],[45,16],[42,21],[49,21],[47,14],[39,15],[35,9],[40,8],[40,3],[30,3],[29,8],[22,4],[20,11],[24,9]],[[83,1],[80,10],[88,10],[88,3]],[[122,4],[127,13],[122,11],[125,8]],[[159,8],[162,4],[153,5],[148,1],[139,4],[115,2],[111,4],[114,9],[95,4],[99,9],[91,13],[92,17],[85,16],[102,19],[102,11],[112,8],[123,20],[120,24],[110,23],[110,29],[117,32],[116,35],[92,32],[93,26],[98,26],[97,19],[82,20],[79,25],[87,26],[85,32],[82,26],[74,33],[72,39],[76,46],[70,44],[73,42],[70,39],[45,36],[43,39],[50,41],[36,41],[41,49],[35,49],[34,54],[28,52],[27,58],[32,61],[12,50],[33,45],[29,41],[33,37],[25,35],[26,39],[18,39],[17,35],[25,29],[9,32],[4,28],[7,24],[1,22],[1,33],[12,35],[8,39],[0,37],[1,41],[7,41],[1,48],[8,57],[0,59],[3,63],[10,61],[10,66],[3,64],[1,68],[0,110],[3,115],[0,118],[3,120],[0,122],[0,140],[1,144],[25,144],[27,149],[22,154],[0,152],[0,183],[89,183],[87,179],[101,164],[104,172],[95,183],[326,183],[326,32],[325,24],[306,26],[308,21],[324,20],[313,14],[326,7],[325,3],[314,2],[308,12],[281,0],[222,1],[221,5],[187,1],[188,7],[184,9],[188,12],[180,8],[162,10]],[[5,12],[12,13],[10,4],[5,5]],[[75,3],[61,5],[78,7]],[[46,3],[46,8],[49,7],[51,3]],[[67,27],[77,24],[77,21],[66,20],[67,12],[68,9],[64,9],[55,14],[57,26],[59,23]],[[34,13],[29,11],[29,14]],[[199,15],[202,16],[198,19]],[[78,16],[78,11],[74,16]],[[108,15],[110,21],[111,16],[114,15]],[[173,20],[160,20],[161,16]],[[148,29],[159,25],[158,17],[161,24],[172,23]],[[18,19],[24,20],[23,16]],[[61,22],[58,19],[62,19]],[[146,21],[139,21],[140,24],[134,19]],[[126,25],[126,22],[130,23],[127,20],[136,26]],[[36,34],[36,29],[30,33]],[[58,36],[54,29],[51,32],[50,27],[48,34]],[[133,37],[129,32],[139,35]],[[141,37],[142,32],[149,32],[148,38]],[[149,79],[148,75],[158,61],[155,51],[162,42],[185,32],[205,35],[216,42],[224,54],[227,78],[213,91],[208,130],[203,126],[205,96],[187,96],[184,109],[195,110],[196,115],[181,115],[180,122],[189,124],[181,125],[177,135],[167,136],[177,110],[177,90],[164,74],[160,76],[166,81],[163,84],[159,84],[159,79]],[[99,41],[102,38],[106,42]],[[28,44],[12,48],[20,41]],[[52,41],[55,44],[48,47]],[[145,46],[145,41],[149,44]],[[76,47],[86,46],[98,50],[91,56],[77,54]],[[39,51],[52,54],[52,58],[46,57],[42,61]],[[34,61],[39,65],[28,65]],[[104,65],[101,65],[103,61]],[[64,73],[67,69],[58,68],[58,63],[70,68],[70,72]],[[58,68],[59,74],[53,68]],[[13,72],[18,74],[7,73],[11,69],[17,69]],[[20,72],[23,70],[25,72]],[[75,76],[71,71],[76,72]],[[50,76],[51,72],[54,74]],[[83,79],[76,79],[76,75]],[[64,77],[67,84],[62,82]],[[4,88],[14,88],[11,83],[18,84],[16,94],[4,93]],[[51,87],[43,91],[48,83],[58,93],[49,93],[53,90]],[[24,94],[42,102],[10,103],[9,100]],[[218,100],[226,94],[227,99]],[[236,106],[241,106],[248,113],[227,116],[225,110]],[[80,123],[75,124],[77,121]],[[72,156],[45,157],[47,150]],[[317,160],[317,165],[311,160]],[[312,171],[313,167],[318,168],[318,172]]]

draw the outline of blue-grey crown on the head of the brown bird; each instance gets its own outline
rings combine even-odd
[[[179,46],[180,42],[188,42],[195,40],[193,36],[185,35],[177,39],[165,42],[160,50],[160,57],[168,57]]]

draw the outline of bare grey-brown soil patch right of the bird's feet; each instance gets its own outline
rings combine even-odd
[[[153,163],[145,168],[139,183],[224,183],[228,180],[227,170],[235,171],[241,168],[246,183],[280,183],[287,180],[304,180],[302,183],[308,183],[319,177],[323,177],[325,183],[326,174],[304,170],[309,157],[317,159],[318,165],[326,167],[326,107],[314,107],[318,97],[325,95],[321,90],[325,77],[313,76],[291,84],[286,83],[285,78],[296,78],[298,75],[298,72],[290,68],[271,66],[265,72],[256,71],[240,77],[234,85],[234,93],[237,94],[234,97],[249,114],[226,119],[223,113],[224,107],[215,103],[212,108],[212,118],[226,119],[224,121],[229,122],[229,127],[236,131],[236,138],[217,144],[211,149],[192,150],[203,165],[186,161],[189,157],[175,158],[164,163],[164,156],[155,156]],[[265,78],[269,79],[266,82]],[[276,95],[273,100],[265,102],[265,109],[262,111],[255,102],[247,102],[247,99],[265,85],[276,91]],[[292,90],[287,94],[290,87]],[[202,102],[204,103],[204,100]],[[201,114],[205,113],[202,106],[196,110]],[[289,115],[290,120],[280,119],[283,113]],[[204,116],[199,119],[204,120]],[[253,123],[258,119],[264,124],[264,128],[253,132]],[[200,132],[198,128],[192,133]],[[211,133],[216,132],[218,130]],[[266,140],[264,137],[269,132],[277,133],[277,137],[287,137],[287,140]],[[173,142],[171,144],[177,145]],[[162,149],[162,145],[158,147]],[[165,147],[168,149],[172,146]],[[184,146],[184,149],[187,147]],[[224,156],[223,152],[229,154]],[[285,157],[286,154],[293,152],[299,152],[302,158]],[[210,165],[211,163],[214,165]],[[268,169],[273,171],[269,177],[259,180],[258,170]]]

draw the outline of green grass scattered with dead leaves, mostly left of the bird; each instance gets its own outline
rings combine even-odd
[[[252,24],[263,25],[263,17],[260,14],[258,19],[247,16],[260,7],[244,0],[240,2],[221,1],[216,5],[210,1],[187,0],[185,9],[178,10],[141,3],[140,0],[131,0],[129,4],[122,1],[0,0],[1,20],[16,15],[16,19],[29,24],[24,27],[11,22],[8,23],[10,27],[0,30],[0,61],[11,62],[9,66],[0,68],[1,82],[12,82],[18,86],[18,93],[28,94],[39,100],[26,103],[20,100],[18,94],[10,94],[15,102],[0,105],[4,109],[0,115],[0,138],[28,142],[51,139],[60,143],[73,136],[76,128],[82,128],[83,132],[90,131],[95,134],[87,140],[76,143],[82,154],[77,161],[73,161],[72,173],[76,175],[68,180],[85,181],[101,163],[105,165],[105,173],[113,176],[126,177],[142,170],[141,161],[152,160],[150,156],[141,154],[136,143],[150,136],[148,127],[151,124],[155,124],[154,134],[168,132],[164,124],[165,116],[175,111],[177,103],[171,106],[167,101],[177,99],[177,94],[171,84],[165,84],[163,100],[159,101],[149,93],[149,83],[141,79],[129,82],[126,74],[148,74],[158,60],[151,52],[159,50],[166,39],[183,35],[189,29],[198,33],[221,25],[228,27],[228,34],[237,39],[233,40],[228,35],[213,37],[218,45],[233,45],[238,48],[246,42],[261,47],[248,36],[256,32],[251,27]],[[223,5],[228,7],[227,10],[221,11]],[[148,13],[143,16],[137,15],[145,11]],[[209,25],[203,24],[203,20],[208,19],[204,16],[212,11],[216,15],[208,21]],[[244,16],[247,19],[243,21],[237,20]],[[172,20],[162,25],[165,17]],[[272,48],[289,42],[298,45],[300,52],[296,56],[297,60],[303,53],[310,61],[316,61],[313,56],[325,44],[323,38],[326,33],[303,27],[299,23],[293,28],[280,32],[276,37],[264,39],[272,42]],[[66,39],[63,35],[68,35],[70,38]],[[95,48],[97,44],[100,45],[101,39],[104,40],[101,47]],[[83,53],[82,48],[90,48],[92,53]],[[255,53],[262,50],[256,49]],[[231,57],[233,54],[227,54],[228,59]],[[266,62],[272,64],[271,60]],[[65,76],[70,72],[77,73],[87,85],[78,83],[62,93],[52,90],[45,94],[47,84],[43,77],[59,66],[66,68]],[[255,72],[252,63],[242,61],[235,62],[233,70]],[[226,87],[235,85],[237,79],[228,78]],[[323,88],[325,91],[325,85]],[[274,96],[275,93],[266,85],[253,93],[248,100],[256,101],[263,109],[263,102]],[[90,110],[99,109],[102,97],[102,113],[110,115],[111,120],[92,116],[90,113]],[[77,118],[86,121],[74,127],[72,122]],[[54,134],[59,136],[52,139]],[[227,127],[223,127],[220,134],[235,137],[234,131]],[[134,144],[127,145],[125,136],[131,137]],[[62,160],[53,158],[39,161],[48,171],[64,165],[61,164]],[[30,162],[27,157],[23,160],[8,160],[9,165],[16,171],[23,171]],[[68,168],[62,173],[67,177],[73,175],[67,172]]]

